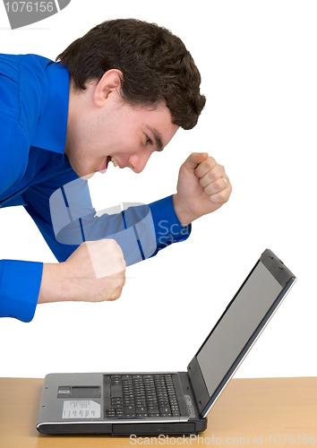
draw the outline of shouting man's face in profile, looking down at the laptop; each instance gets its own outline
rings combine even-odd
[[[111,158],[120,168],[141,173],[152,152],[162,151],[179,127],[172,123],[165,104],[155,109],[135,108],[124,102],[116,90],[100,104],[91,102],[96,95],[93,90],[78,95],[73,105],[70,102],[73,110],[65,152],[80,177],[103,172]]]

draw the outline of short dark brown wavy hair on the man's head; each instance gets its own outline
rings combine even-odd
[[[166,101],[174,124],[196,125],[206,99],[201,75],[181,39],[155,23],[118,19],[100,23],[56,57],[67,66],[76,90],[110,69],[123,73],[123,99],[133,106]]]

